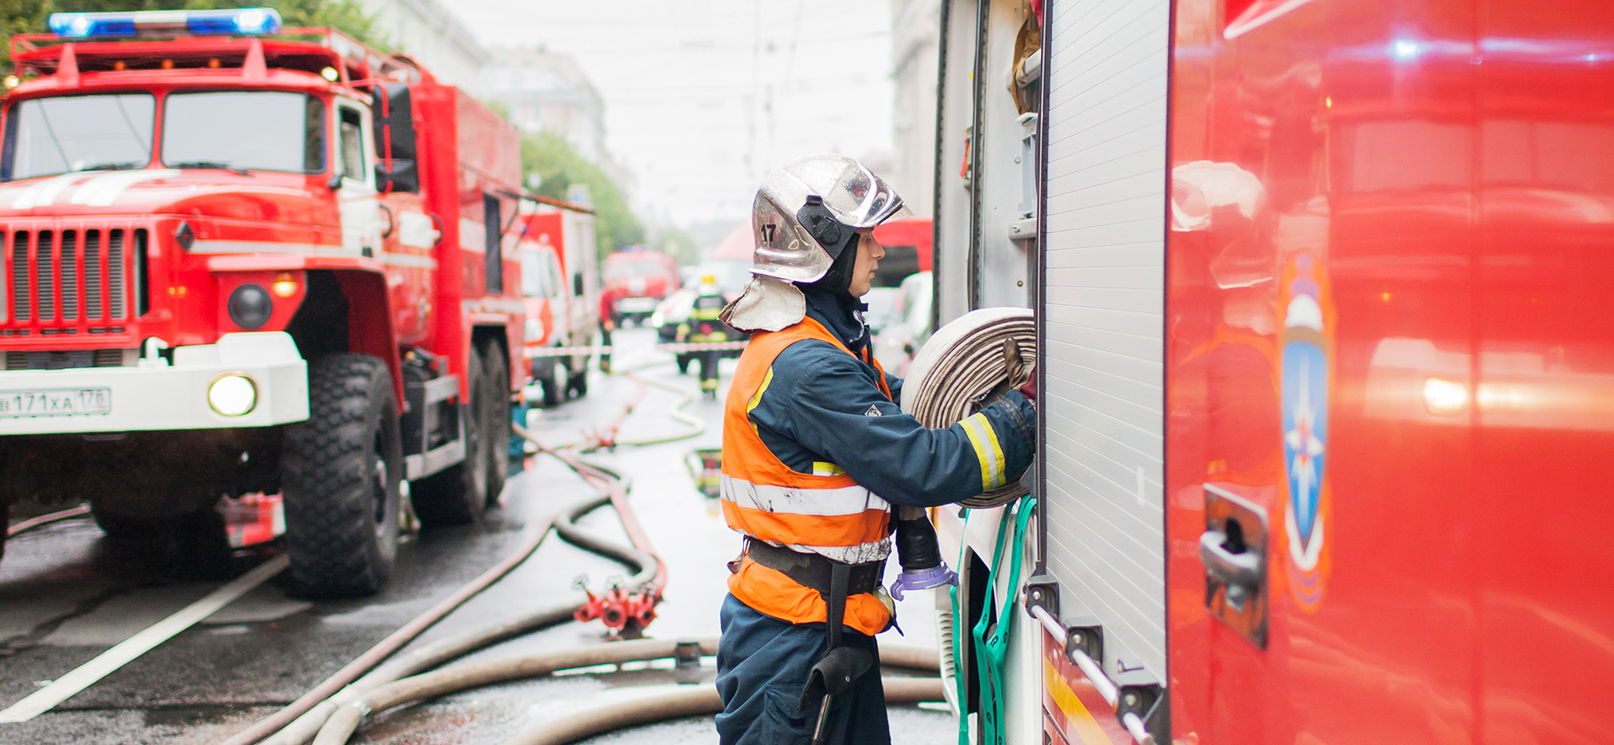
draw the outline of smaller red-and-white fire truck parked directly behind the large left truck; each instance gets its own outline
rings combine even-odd
[[[592,347],[599,340],[599,261],[594,211],[546,200],[523,214],[521,292],[526,295],[525,369],[544,406],[589,390],[589,355],[544,355],[547,347]]]

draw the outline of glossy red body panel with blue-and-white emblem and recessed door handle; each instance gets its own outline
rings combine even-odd
[[[1225,5],[1175,3],[1170,164],[1265,203],[1169,237],[1175,735],[1614,742],[1614,15]],[[1272,516],[1265,648],[1204,482]]]

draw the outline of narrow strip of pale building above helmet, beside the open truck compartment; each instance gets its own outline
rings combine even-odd
[[[914,214],[935,211],[939,0],[891,0],[891,169],[876,171]]]

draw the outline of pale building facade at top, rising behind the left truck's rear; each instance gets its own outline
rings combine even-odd
[[[475,97],[483,90],[487,50],[437,0],[360,0],[374,23],[376,35],[392,48],[405,50],[439,81],[458,85]]]

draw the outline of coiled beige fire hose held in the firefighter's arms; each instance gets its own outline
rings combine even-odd
[[[902,411],[930,429],[949,427],[978,411],[994,393],[1023,384],[1035,360],[1036,323],[1030,310],[965,313],[936,331],[914,358],[902,381]],[[960,505],[1001,506],[1025,493],[1027,489],[1010,479]]]

